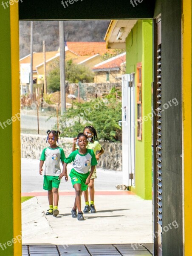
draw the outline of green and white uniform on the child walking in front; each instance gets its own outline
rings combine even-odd
[[[79,149],[75,150],[65,158],[64,162],[73,162],[73,169],[71,169],[69,175],[72,185],[74,186],[74,184],[79,183],[81,184],[82,191],[87,190],[88,185],[85,185],[85,181],[90,174],[90,166],[97,164],[93,150],[87,149],[86,154],[79,154]]]

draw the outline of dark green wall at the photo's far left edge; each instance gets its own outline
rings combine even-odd
[[[0,122],[12,116],[11,109],[11,42],[10,9],[0,6]],[[5,127],[6,125],[6,127]],[[11,125],[0,126],[1,143],[1,218],[0,243],[13,239],[13,174],[12,174],[12,128]],[[18,134],[20,136],[20,134]],[[13,255],[13,245],[0,247],[0,255]]]

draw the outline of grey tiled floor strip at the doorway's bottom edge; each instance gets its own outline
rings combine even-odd
[[[22,256],[151,256],[153,244],[23,245]]]

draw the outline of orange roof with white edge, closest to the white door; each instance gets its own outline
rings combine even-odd
[[[125,52],[124,53],[121,53],[113,58],[110,58],[106,61],[103,61],[103,62],[100,62],[99,64],[96,64],[94,67],[93,67],[93,70],[94,71],[97,71],[97,70],[107,70],[107,69],[116,69],[118,67],[121,66],[122,63],[124,63],[126,61],[126,54]]]

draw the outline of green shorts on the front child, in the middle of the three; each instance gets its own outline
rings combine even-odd
[[[86,191],[88,188],[88,185],[85,185],[85,182],[89,174],[90,172],[83,174],[83,173],[76,172],[76,170],[72,169],[69,176],[71,177],[71,183],[73,187],[74,187],[74,184],[79,183],[81,184],[81,190]]]

